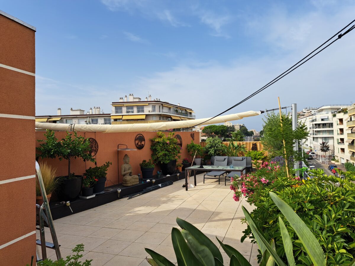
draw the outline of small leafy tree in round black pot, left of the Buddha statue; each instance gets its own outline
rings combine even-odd
[[[59,160],[68,160],[68,175],[61,177],[62,188],[61,198],[63,200],[73,200],[78,197],[82,188],[82,175],[75,175],[70,172],[70,163],[72,159],[82,158],[83,161],[95,162],[91,155],[90,142],[87,138],[78,136],[77,132],[73,134],[67,132],[65,138],[58,141],[54,131],[48,130],[44,133],[45,140],[37,140],[43,142],[37,148],[41,158],[56,158]]]

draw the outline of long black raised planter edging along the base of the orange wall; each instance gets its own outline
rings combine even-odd
[[[172,174],[169,177],[163,176],[161,178],[157,178],[156,175],[154,175],[153,178],[155,178],[154,185],[159,185],[167,181],[173,181],[173,182],[178,181],[178,176],[176,174]],[[179,180],[181,179],[185,179],[185,172],[180,173]],[[96,195],[93,198],[77,199],[77,200],[70,201],[70,207],[73,210],[73,212],[71,212],[69,207],[66,206],[65,204],[60,204],[59,201],[50,201],[49,206],[50,206],[52,218],[53,220],[56,220],[65,216],[76,214],[78,212],[86,211],[98,207],[100,205],[110,203],[118,199],[127,200],[127,198],[124,198],[125,196],[140,192],[145,188],[151,187],[152,185],[153,183],[149,182],[149,183],[132,185],[131,187],[123,187],[122,185],[113,185],[107,187],[105,188],[105,193]],[[121,189],[120,196],[118,196],[117,193],[118,188]],[[154,191],[149,193],[154,193]]]

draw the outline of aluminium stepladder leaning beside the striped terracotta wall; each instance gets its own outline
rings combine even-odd
[[[52,215],[50,212],[49,203],[47,199],[47,193],[44,188],[42,173],[39,169],[39,164],[37,161],[36,161],[36,177],[43,197],[43,204],[42,205],[36,204],[36,223],[38,222],[39,224],[39,228],[37,228],[36,226],[36,229],[38,229],[40,232],[40,239],[36,240],[36,244],[40,245],[42,250],[42,259],[40,259],[39,254],[37,253],[36,250],[37,261],[47,259],[46,248],[54,249],[57,259],[59,260],[61,259],[61,254],[59,250],[58,239],[54,229],[53,219],[52,219]],[[45,241],[45,234],[44,234],[45,223],[49,227],[53,243]]]

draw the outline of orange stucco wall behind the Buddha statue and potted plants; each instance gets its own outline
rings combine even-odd
[[[36,139],[44,139],[43,131],[36,132]],[[78,135],[82,135],[86,138],[94,138],[98,142],[99,149],[97,154],[94,156],[97,165],[103,165],[105,162],[110,161],[112,165],[108,169],[107,179],[111,180],[114,184],[122,183],[122,175],[121,173],[118,175],[118,152],[117,146],[118,144],[126,144],[128,148],[136,148],[135,146],[135,138],[138,133],[143,134],[146,143],[143,149],[135,150],[135,151],[119,151],[119,166],[123,164],[123,156],[127,154],[130,156],[130,164],[132,166],[133,174],[141,173],[141,168],[139,164],[142,160],[151,159],[152,150],[150,149],[151,141],[149,139],[154,138],[157,133],[156,132],[137,132],[137,133],[88,133],[88,132],[78,132]],[[166,133],[168,134],[168,133]],[[189,154],[186,150],[186,144],[191,143],[191,132],[175,132],[175,135],[179,134],[182,139],[182,151],[181,151],[181,159],[188,157]],[[58,139],[62,139],[65,132],[56,132],[56,137]],[[195,132],[195,143],[200,143],[200,138],[198,132]],[[36,146],[39,146],[39,142],[36,143]],[[124,146],[120,146],[120,148]],[[191,159],[191,158],[190,158]],[[65,176],[68,174],[68,162],[66,160],[59,161],[58,159],[46,159],[50,164],[58,167],[57,175]],[[85,172],[86,168],[90,166],[94,166],[92,162],[84,162],[83,160],[74,160],[71,161],[71,172],[75,172],[76,174],[82,174]],[[155,166],[154,174],[159,170],[158,166]],[[108,185],[112,185],[109,183]]]

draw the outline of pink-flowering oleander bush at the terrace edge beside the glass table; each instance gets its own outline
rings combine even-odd
[[[256,172],[242,174],[239,177],[231,178],[230,189],[234,191],[233,199],[239,201],[240,197],[248,197],[247,201],[252,204],[265,192],[273,190],[275,179],[287,176],[286,168],[278,162],[263,162]],[[290,177],[290,185],[299,185],[299,177]],[[240,189],[239,189],[240,188]]]

